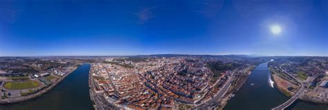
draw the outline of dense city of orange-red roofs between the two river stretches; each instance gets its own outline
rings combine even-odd
[[[109,57],[93,63],[98,109],[215,109],[242,87],[262,58],[239,56]]]

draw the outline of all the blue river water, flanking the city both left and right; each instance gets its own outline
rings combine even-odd
[[[271,85],[268,63],[257,66],[246,83],[231,98],[227,110],[269,110],[289,98]],[[89,64],[78,67],[62,83],[46,94],[17,104],[0,105],[1,110],[89,110],[93,109],[89,98]],[[254,85],[250,85],[254,83]],[[327,105],[297,101],[289,109],[327,110]]]

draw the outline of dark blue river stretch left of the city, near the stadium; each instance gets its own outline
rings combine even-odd
[[[0,105],[1,110],[90,110],[89,64],[83,64],[46,94],[16,104]]]

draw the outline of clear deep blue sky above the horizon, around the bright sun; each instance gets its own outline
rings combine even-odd
[[[328,56],[328,2],[0,1],[0,56],[137,54]]]

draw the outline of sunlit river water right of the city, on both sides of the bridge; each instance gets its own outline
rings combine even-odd
[[[254,85],[250,85],[251,83]],[[253,70],[246,83],[228,101],[224,109],[270,110],[288,99],[273,87],[273,81],[268,71],[268,63],[262,63]],[[327,110],[328,105],[297,101],[287,109]]]

